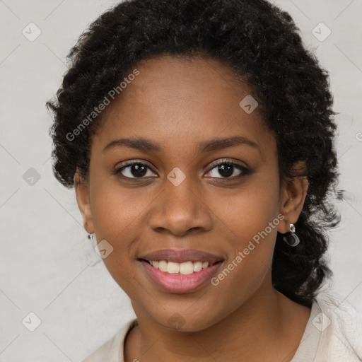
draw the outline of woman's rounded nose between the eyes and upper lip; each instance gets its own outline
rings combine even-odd
[[[178,186],[165,180],[165,187],[153,203],[148,216],[149,226],[158,233],[184,236],[187,233],[208,231],[213,218],[203,193],[192,185],[192,177]]]

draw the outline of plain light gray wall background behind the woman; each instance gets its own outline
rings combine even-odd
[[[45,109],[60,86],[64,58],[78,35],[117,2],[0,1],[3,362],[81,361],[134,317],[128,297],[103,262],[92,267],[98,255],[86,239],[74,190],[62,187],[52,175],[51,118]],[[331,74],[334,110],[340,112],[340,188],[349,197],[339,204],[342,222],[332,234],[332,287],[362,310],[362,1],[276,4],[291,13],[308,49]],[[30,22],[42,32],[33,42],[22,34],[24,28],[30,33]],[[332,30],[322,42],[313,35],[320,22]],[[35,28],[31,33],[35,35]],[[40,175],[34,185],[23,179],[29,168]],[[41,320],[34,332],[24,326],[35,321],[30,312]]]

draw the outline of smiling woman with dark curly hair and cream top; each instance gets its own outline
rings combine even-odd
[[[336,113],[291,16],[125,1],[69,58],[54,175],[136,314],[84,361],[361,361],[361,317],[318,295]]]

